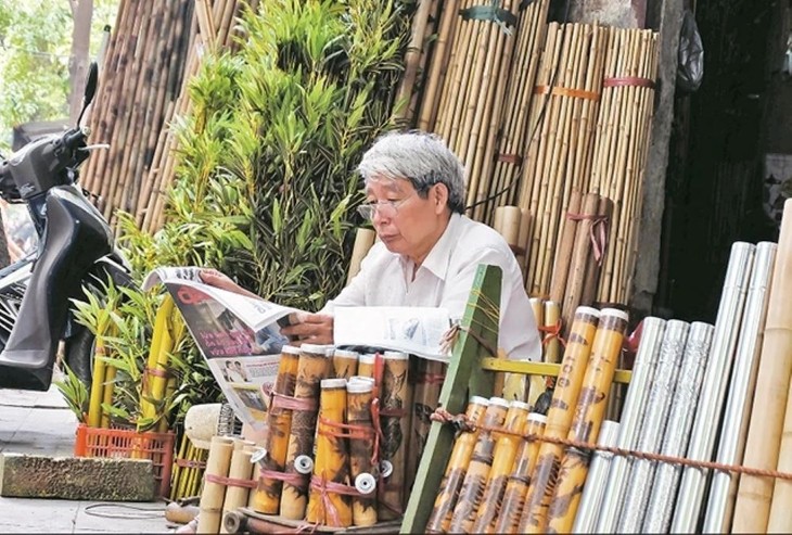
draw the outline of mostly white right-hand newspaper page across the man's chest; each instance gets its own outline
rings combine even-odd
[[[334,309],[336,346],[382,347],[447,362],[443,339],[451,327],[448,310],[412,306],[338,306]]]

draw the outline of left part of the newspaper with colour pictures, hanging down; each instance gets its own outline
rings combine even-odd
[[[210,286],[199,272],[196,267],[157,268],[143,290],[165,284],[237,417],[265,429],[263,388],[274,383],[281,348],[289,344],[280,329],[301,310]]]

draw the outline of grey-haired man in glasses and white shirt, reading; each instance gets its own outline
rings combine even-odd
[[[491,264],[503,271],[498,345],[510,358],[539,359],[539,333],[516,259],[500,234],[463,215],[464,170],[443,140],[423,132],[385,135],[358,170],[367,196],[358,211],[380,240],[337,297],[283,334],[331,344],[338,306],[435,306],[461,318],[478,264]],[[202,277],[239,290],[217,271]]]

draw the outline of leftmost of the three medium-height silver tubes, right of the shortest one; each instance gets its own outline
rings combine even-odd
[[[616,446],[623,449],[635,449],[640,436],[643,415],[649,399],[649,386],[654,380],[654,370],[660,356],[660,346],[665,333],[665,320],[648,317],[643,319],[638,353],[633,365],[633,377],[627,387],[627,395],[622,410],[622,422],[618,428]],[[622,507],[627,474],[631,459],[616,456],[608,471],[608,484],[602,496],[602,505],[597,520],[597,533],[613,533],[616,530],[618,513]]]

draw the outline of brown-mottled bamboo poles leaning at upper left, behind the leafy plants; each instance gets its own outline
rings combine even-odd
[[[118,7],[89,124],[92,140],[111,148],[88,161],[81,179],[111,220],[123,209],[148,230],[162,224],[162,192],[174,173],[169,125],[188,111],[200,48],[231,46],[244,4],[207,1],[122,0]]]

